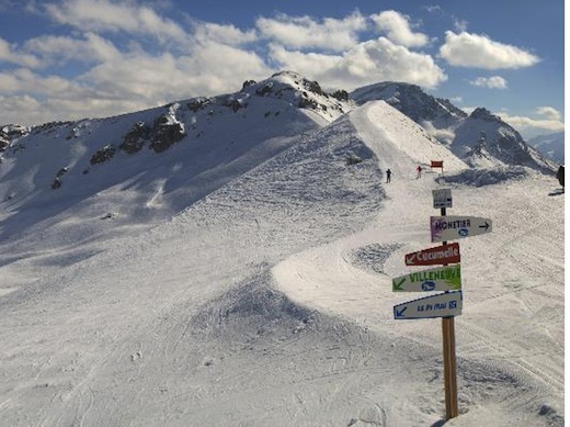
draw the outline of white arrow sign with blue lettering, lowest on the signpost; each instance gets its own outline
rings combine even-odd
[[[461,291],[445,292],[394,306],[394,318],[448,317],[461,314]]]

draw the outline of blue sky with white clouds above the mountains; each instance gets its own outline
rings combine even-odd
[[[563,0],[0,0],[0,124],[110,116],[290,69],[406,81],[523,136],[563,130]]]

